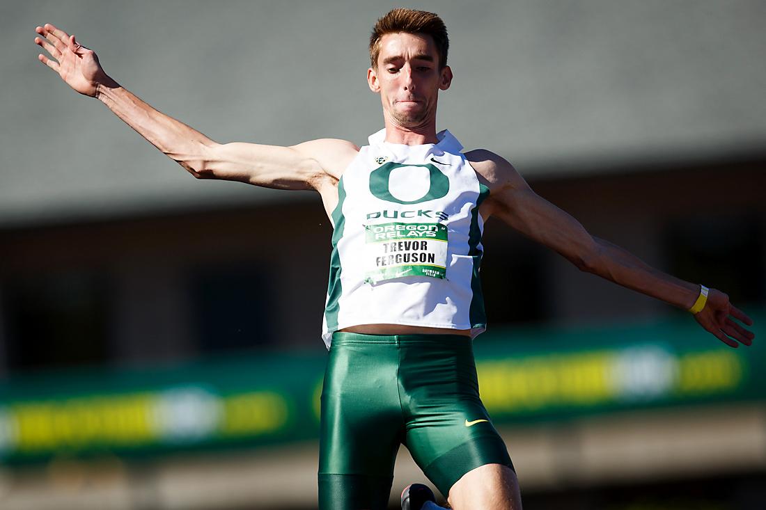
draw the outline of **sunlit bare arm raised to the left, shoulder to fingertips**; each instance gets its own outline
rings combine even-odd
[[[334,184],[358,148],[352,142],[321,139],[290,147],[214,142],[159,112],[119,86],[97,55],[54,25],[35,31],[34,42],[55,60],[38,55],[77,92],[106,104],[116,116],[196,178],[217,178],[280,189],[316,189]]]

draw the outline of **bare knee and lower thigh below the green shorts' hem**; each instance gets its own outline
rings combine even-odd
[[[454,510],[522,510],[516,473],[500,464],[466,472],[450,489],[447,501]]]

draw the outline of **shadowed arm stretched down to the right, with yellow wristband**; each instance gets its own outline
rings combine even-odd
[[[489,184],[489,198],[482,206],[485,216],[499,217],[525,236],[560,253],[580,270],[679,308],[691,309],[697,301],[699,284],[656,270],[627,250],[591,236],[574,217],[535,194],[505,159],[482,150],[466,156]],[[752,320],[719,290],[709,289],[705,306],[694,317],[731,347],[738,347],[739,343],[751,345],[755,338],[754,333],[733,319],[746,325],[751,325]]]

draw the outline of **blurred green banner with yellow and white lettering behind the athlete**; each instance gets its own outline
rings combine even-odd
[[[732,349],[689,316],[593,329],[494,330],[474,344],[499,425],[648,407],[766,400],[766,314]],[[319,342],[319,340],[317,340]],[[0,383],[0,461],[145,456],[316,438],[326,353],[249,353]]]

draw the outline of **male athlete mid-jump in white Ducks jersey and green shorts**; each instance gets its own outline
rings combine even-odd
[[[755,336],[733,320],[752,323],[724,293],[591,237],[505,159],[461,152],[450,132],[437,133],[438,93],[453,76],[437,15],[394,9],[375,25],[367,81],[381,96],[385,129],[361,148],[338,139],[219,144],[121,87],[74,35],[53,25],[36,31],[35,42],[55,59],[41,54],[44,64],[196,178],[322,197],[334,233],[322,334],[329,361],[320,508],[386,508],[400,443],[452,508],[522,508],[506,446],[479,398],[471,350],[486,327],[478,272],[490,216],[581,270],[688,309],[727,345],[751,345]],[[405,508],[439,508],[420,489],[405,494]]]

